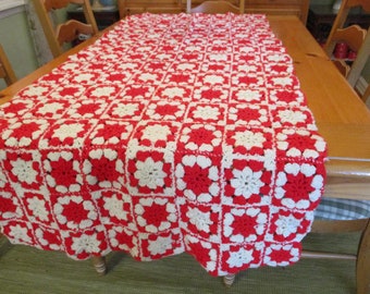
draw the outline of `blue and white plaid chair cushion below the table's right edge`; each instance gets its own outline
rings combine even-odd
[[[321,220],[354,220],[370,218],[370,200],[322,198],[314,211]]]

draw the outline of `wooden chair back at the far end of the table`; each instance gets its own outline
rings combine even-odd
[[[229,1],[205,1],[195,8],[192,8],[192,0],[187,0],[187,12],[208,14],[232,12],[235,14],[242,14],[244,13],[244,0],[240,0],[239,7],[235,7]]]

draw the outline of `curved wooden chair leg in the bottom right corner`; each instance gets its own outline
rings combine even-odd
[[[358,247],[357,265],[357,294],[370,293],[370,219],[362,233]]]

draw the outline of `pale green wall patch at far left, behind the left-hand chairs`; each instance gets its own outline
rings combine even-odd
[[[0,19],[0,41],[17,78],[37,69],[36,54],[24,10]],[[5,83],[0,81],[0,89],[4,87]]]

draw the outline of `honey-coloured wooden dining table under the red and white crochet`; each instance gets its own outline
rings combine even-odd
[[[370,111],[296,16],[270,15],[271,28],[293,58],[300,88],[328,144],[324,197],[370,200]],[[110,28],[108,28],[110,29]],[[101,33],[103,34],[103,32]],[[72,48],[0,91],[0,103],[91,45],[101,34]],[[369,248],[369,228],[363,237]],[[369,256],[363,254],[369,272]],[[366,266],[367,264],[367,266]]]

